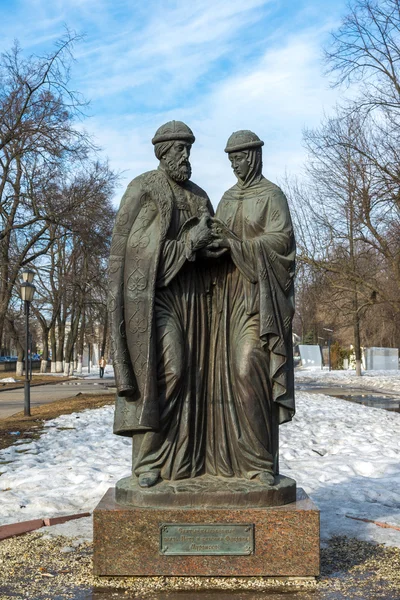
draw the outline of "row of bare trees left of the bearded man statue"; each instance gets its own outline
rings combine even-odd
[[[18,44],[0,58],[0,353],[22,369],[21,270],[35,273],[33,328],[52,369],[68,373],[90,336],[107,339],[106,263],[117,175],[85,132],[88,106],[71,87],[67,31],[47,55]],[[85,337],[86,336],[86,337]]]

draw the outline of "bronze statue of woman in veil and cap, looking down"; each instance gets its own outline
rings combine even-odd
[[[273,486],[278,424],[294,414],[295,240],[283,192],[262,175],[263,142],[228,140],[238,179],[217,209],[206,472]]]

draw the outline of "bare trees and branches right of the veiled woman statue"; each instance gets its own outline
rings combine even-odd
[[[353,0],[324,50],[345,90],[304,132],[306,176],[288,178],[298,242],[295,331],[333,329],[355,349],[400,346],[400,2]],[[346,93],[347,92],[347,93]]]

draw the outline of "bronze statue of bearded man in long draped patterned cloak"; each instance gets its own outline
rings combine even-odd
[[[210,281],[200,253],[213,210],[190,181],[194,140],[180,121],[157,130],[159,167],[129,184],[111,242],[114,432],[133,439],[141,487],[204,470]]]

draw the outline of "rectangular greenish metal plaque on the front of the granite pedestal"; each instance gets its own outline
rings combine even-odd
[[[164,523],[160,526],[160,553],[168,556],[179,554],[246,556],[253,552],[254,525]]]

